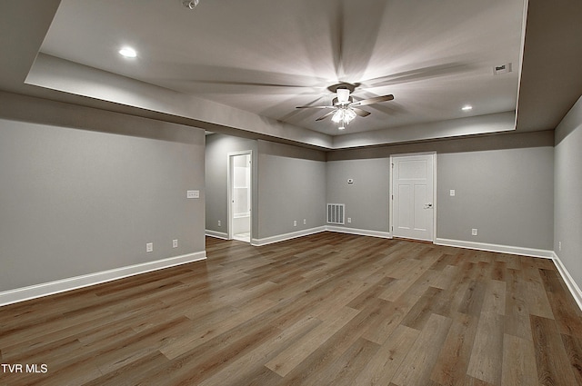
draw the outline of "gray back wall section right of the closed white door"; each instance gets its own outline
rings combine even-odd
[[[438,154],[437,237],[551,250],[553,158],[551,146]]]

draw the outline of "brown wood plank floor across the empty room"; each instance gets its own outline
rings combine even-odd
[[[206,262],[0,308],[0,385],[582,385],[582,313],[550,260],[206,242]]]

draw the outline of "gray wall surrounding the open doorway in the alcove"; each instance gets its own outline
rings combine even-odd
[[[252,212],[256,212],[256,154],[255,140],[224,134],[206,135],[206,230],[228,233],[228,153],[253,151]],[[218,222],[220,221],[220,226]],[[256,234],[258,220],[253,216],[252,233]]]

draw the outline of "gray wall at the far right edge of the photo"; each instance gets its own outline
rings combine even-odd
[[[579,287],[582,287],[581,149],[582,97],[556,129],[554,211],[554,251]]]

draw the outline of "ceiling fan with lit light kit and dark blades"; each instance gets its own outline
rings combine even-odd
[[[394,99],[393,94],[376,96],[374,98],[363,99],[361,101],[354,102],[354,99],[350,96],[356,89],[357,84],[335,84],[327,87],[327,89],[333,93],[336,93],[336,97],[332,101],[332,105],[325,106],[297,106],[298,109],[331,109],[330,112],[323,114],[316,121],[322,121],[328,116],[331,116],[331,120],[336,124],[340,124],[339,130],[344,130],[346,125],[349,124],[356,118],[356,116],[368,116],[370,113],[366,110],[360,108],[360,106],[365,106],[367,104],[379,104],[381,102],[387,102]]]

